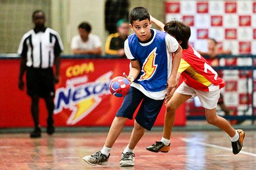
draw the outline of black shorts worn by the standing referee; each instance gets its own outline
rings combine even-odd
[[[40,98],[54,97],[54,78],[52,68],[27,67],[27,93]]]

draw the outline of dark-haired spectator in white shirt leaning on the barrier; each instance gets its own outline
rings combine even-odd
[[[72,38],[71,49],[74,54],[101,54],[101,41],[97,35],[91,34],[91,26],[88,22],[82,22],[78,26],[79,35]]]

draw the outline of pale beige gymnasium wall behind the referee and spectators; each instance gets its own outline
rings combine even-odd
[[[70,43],[77,35],[81,21],[92,25],[92,33],[102,41],[102,49],[108,33],[104,26],[104,5],[106,0],[12,0],[0,1],[0,54],[16,53],[22,36],[33,28],[32,12],[44,10],[46,25],[56,30],[65,47],[63,54],[71,54]],[[129,1],[129,0],[128,0]],[[156,18],[164,21],[164,0],[130,0],[130,9],[143,6]]]

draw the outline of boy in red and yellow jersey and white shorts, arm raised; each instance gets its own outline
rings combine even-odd
[[[152,152],[168,152],[170,149],[170,134],[172,132],[175,112],[190,98],[198,96],[205,108],[206,120],[209,124],[225,131],[231,140],[233,154],[238,154],[243,146],[244,131],[235,130],[227,120],[216,114],[220,89],[225,86],[217,72],[207,61],[188,44],[190,28],[180,21],[169,21],[165,25],[152,17],[152,21],[162,30],[177,39],[183,48],[182,59],[177,73],[177,82],[182,75],[185,79],[182,84],[166,94],[166,114],[164,131],[161,141],[157,141],[146,149]]]

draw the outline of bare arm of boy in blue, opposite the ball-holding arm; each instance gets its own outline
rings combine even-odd
[[[178,50],[174,53],[173,57],[173,64],[172,64],[172,72],[170,74],[169,79],[167,80],[167,93],[166,95],[169,94],[169,92],[177,86],[177,72],[178,68],[180,65],[180,59],[182,56],[182,48],[179,45]]]

